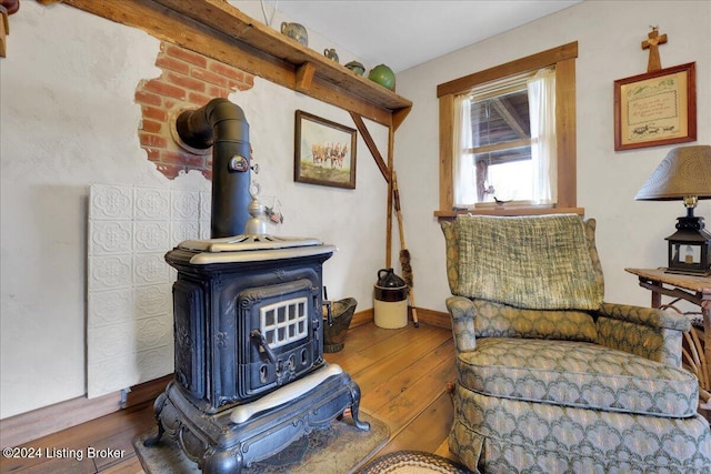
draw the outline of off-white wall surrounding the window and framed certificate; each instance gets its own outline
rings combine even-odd
[[[641,42],[650,24],[669,42],[660,47],[662,67],[697,62],[698,141],[711,143],[711,2],[588,0],[550,17],[472,44],[398,74],[398,93],[412,112],[395,139],[408,246],[419,306],[444,311],[450,294],[444,242],[433,218],[439,206],[439,103],[437,84],[578,41],[578,205],[598,221],[598,249],[605,274],[605,299],[649,305],[650,294],[624,268],[667,262],[664,238],[674,232],[681,202],[637,202],[634,194],[673,147],[615,152],[613,81],[647,71]],[[711,202],[698,215],[711,226]]]

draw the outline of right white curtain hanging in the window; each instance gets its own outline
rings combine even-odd
[[[542,69],[528,81],[531,119],[533,203],[558,202],[555,142],[555,70]]]

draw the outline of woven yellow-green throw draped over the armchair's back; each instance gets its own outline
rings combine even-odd
[[[530,310],[597,310],[603,288],[577,214],[458,216],[454,294]]]

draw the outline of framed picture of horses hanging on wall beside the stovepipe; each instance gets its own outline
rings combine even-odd
[[[357,131],[297,110],[293,180],[356,189]]]

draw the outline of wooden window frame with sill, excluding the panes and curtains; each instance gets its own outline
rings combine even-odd
[[[440,205],[434,212],[438,218],[457,214],[532,215],[544,213],[573,212],[583,214],[577,206],[577,137],[575,137],[575,59],[578,42],[521,58],[473,74],[464,75],[437,87],[440,101]],[[555,132],[558,141],[558,203],[541,206],[515,206],[454,210],[452,139],[454,133],[454,97],[472,88],[520,74],[527,71],[555,68]]]

